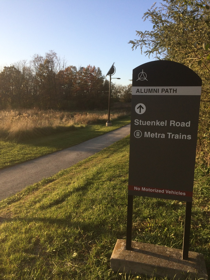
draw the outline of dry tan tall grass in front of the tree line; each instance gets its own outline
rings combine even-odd
[[[124,112],[114,112],[111,119],[128,115]],[[59,131],[74,130],[77,127],[106,122],[108,114],[105,112],[60,112],[54,110],[40,111],[11,110],[0,111],[0,138],[7,140],[24,140],[42,135],[49,135]]]

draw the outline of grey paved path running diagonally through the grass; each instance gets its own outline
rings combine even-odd
[[[130,124],[68,149],[0,170],[0,200],[92,156],[129,133]]]

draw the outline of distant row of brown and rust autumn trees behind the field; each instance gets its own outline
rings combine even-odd
[[[131,85],[112,84],[112,101],[131,101]],[[93,110],[107,108],[109,80],[95,66],[67,66],[49,51],[32,60],[3,67],[0,72],[0,109],[39,108]]]

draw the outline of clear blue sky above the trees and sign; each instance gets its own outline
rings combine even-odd
[[[0,67],[54,50],[67,65],[95,65],[104,75],[115,62],[115,83],[128,85],[132,69],[152,60],[132,51],[142,16],[154,0],[0,0]],[[107,77],[108,78],[108,77]]]

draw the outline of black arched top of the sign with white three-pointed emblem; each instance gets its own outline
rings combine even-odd
[[[201,78],[189,67],[169,60],[147,62],[133,69],[133,87],[201,86]]]

